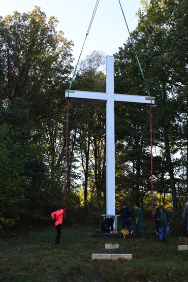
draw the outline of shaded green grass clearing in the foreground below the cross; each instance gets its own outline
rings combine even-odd
[[[188,251],[178,251],[186,238],[171,236],[159,243],[144,232],[142,238],[91,237],[91,227],[64,227],[61,244],[54,245],[52,226],[25,236],[9,234],[0,243],[0,281],[188,281]],[[115,250],[105,243],[118,243]],[[91,260],[92,253],[133,254],[133,260]]]

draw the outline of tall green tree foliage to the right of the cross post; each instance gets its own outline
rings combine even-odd
[[[184,0],[142,3],[143,9],[138,13],[139,24],[132,37],[150,93],[156,97],[155,106],[152,107],[154,191],[171,193],[173,206],[177,209],[180,204],[178,198],[183,199],[187,191],[184,181],[187,165],[183,164],[187,159],[187,134],[184,130],[187,128],[187,102],[184,100],[187,80],[187,46],[184,42],[187,27],[184,25],[186,16],[178,16],[179,13],[186,15],[187,11]],[[177,53],[181,52],[179,60]],[[130,40],[115,55],[115,70],[118,91],[147,95]],[[128,159],[124,158],[126,176],[130,179],[130,186],[135,186],[136,190],[132,189],[136,195],[140,194],[140,200],[137,201],[142,202],[141,194],[145,195],[149,189],[149,124],[146,126],[149,114],[145,108],[139,111],[137,106],[128,106],[124,109],[124,116],[118,116],[121,123],[116,121],[117,148],[120,149],[121,162],[123,150],[127,152]],[[131,173],[128,169],[130,165]],[[121,180],[119,182],[122,184]]]

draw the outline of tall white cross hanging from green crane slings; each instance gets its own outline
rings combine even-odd
[[[68,90],[66,90],[68,97]],[[154,104],[155,98],[114,93],[114,57],[106,58],[106,93],[70,90],[69,98],[106,102],[106,215],[115,215],[114,101]]]

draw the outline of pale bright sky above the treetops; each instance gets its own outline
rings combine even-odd
[[[78,60],[87,29],[91,20],[96,0],[6,0],[1,5],[0,15],[12,15],[32,11],[39,6],[46,16],[57,18],[57,31],[62,30],[68,40],[74,43],[73,57]],[[136,12],[141,7],[140,0],[120,0],[130,32],[138,22]],[[89,34],[84,44],[80,59],[84,59],[93,50],[105,55],[118,52],[129,37],[126,23],[118,0],[100,0]]]

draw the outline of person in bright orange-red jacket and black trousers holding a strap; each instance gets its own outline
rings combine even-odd
[[[52,223],[57,230],[57,235],[55,237],[55,245],[59,244],[60,242],[60,234],[61,234],[61,225],[62,225],[62,218],[64,218],[65,212],[65,205],[60,205],[59,209],[51,213]]]

